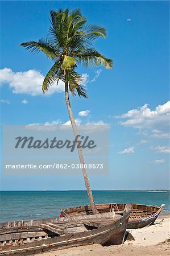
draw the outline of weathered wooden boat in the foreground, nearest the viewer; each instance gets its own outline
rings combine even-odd
[[[117,245],[125,237],[130,208],[113,212],[1,224],[0,255],[32,255],[72,246]],[[50,222],[49,222],[50,221]]]

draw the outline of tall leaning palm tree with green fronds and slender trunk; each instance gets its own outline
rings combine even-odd
[[[52,68],[48,71],[43,81],[43,93],[47,92],[49,86],[59,80],[65,84],[65,101],[68,108],[69,118],[75,137],[78,135],[76,122],[73,117],[69,92],[87,98],[86,89],[81,75],[76,72],[77,64],[81,63],[85,67],[97,67],[103,65],[109,69],[113,67],[113,61],[92,48],[94,41],[99,38],[106,38],[106,30],[102,26],[87,25],[86,18],[81,15],[81,11],[69,9],[50,11],[51,27],[47,39],[40,39],[38,42],[30,41],[20,44],[33,53],[44,52],[49,59],[54,61]],[[84,166],[82,149],[78,148],[80,163]],[[90,183],[85,168],[82,168],[85,187],[88,193],[89,202],[93,213],[97,213],[94,204]]]

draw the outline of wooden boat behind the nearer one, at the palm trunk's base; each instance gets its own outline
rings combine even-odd
[[[125,209],[125,204],[97,204],[97,210],[99,213],[115,211],[115,213],[121,214]],[[160,207],[142,204],[132,204],[130,218],[128,220],[128,229],[143,228],[144,226],[154,224],[157,216],[163,209],[164,204]],[[90,205],[73,207],[69,209],[61,209],[60,216],[79,216],[79,215],[93,214]]]

